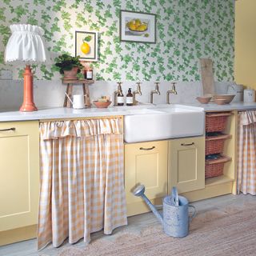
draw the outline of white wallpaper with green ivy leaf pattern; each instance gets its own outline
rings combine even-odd
[[[157,14],[157,43],[119,42],[119,11]],[[199,81],[198,58],[214,60],[218,81],[234,80],[234,0],[3,0],[0,3],[0,70],[10,24],[45,30],[52,58],[74,55],[74,31],[99,32],[97,80]],[[54,66],[36,67],[38,79],[60,78]]]

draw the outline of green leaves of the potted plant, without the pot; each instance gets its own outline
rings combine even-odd
[[[58,67],[60,74],[64,74],[64,70],[72,70],[73,67],[78,67],[78,73],[80,73],[83,66],[79,58],[80,56],[72,57],[69,54],[62,54],[55,58],[54,65]]]

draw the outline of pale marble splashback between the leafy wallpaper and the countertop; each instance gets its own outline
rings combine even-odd
[[[228,86],[232,82],[215,82],[218,94],[226,94]],[[150,90],[154,90],[154,82],[142,82],[142,96],[136,95],[138,102],[150,102]],[[98,81],[90,86],[91,100],[109,95],[114,97],[117,88],[115,81]],[[123,94],[126,95],[128,88],[136,90],[135,82],[122,84]],[[160,95],[154,94],[154,103],[166,103],[166,91],[171,89],[170,82],[161,82],[159,85]],[[34,102],[38,108],[62,106],[66,86],[58,81],[34,81]],[[176,86],[178,94],[170,94],[172,103],[194,103],[196,97],[202,95],[201,82],[178,82]],[[0,111],[18,110],[22,104],[23,82],[20,80],[0,80]],[[82,94],[81,86],[74,86],[74,94]]]

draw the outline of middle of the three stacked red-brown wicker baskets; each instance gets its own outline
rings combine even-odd
[[[229,134],[220,134],[218,136],[206,136],[206,155],[219,154],[223,152],[224,142],[226,138],[230,138]]]

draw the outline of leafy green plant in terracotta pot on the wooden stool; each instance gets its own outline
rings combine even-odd
[[[78,79],[77,74],[83,68],[79,56],[72,57],[69,54],[62,54],[55,58],[54,65],[58,67],[60,74],[64,74],[64,79]]]

